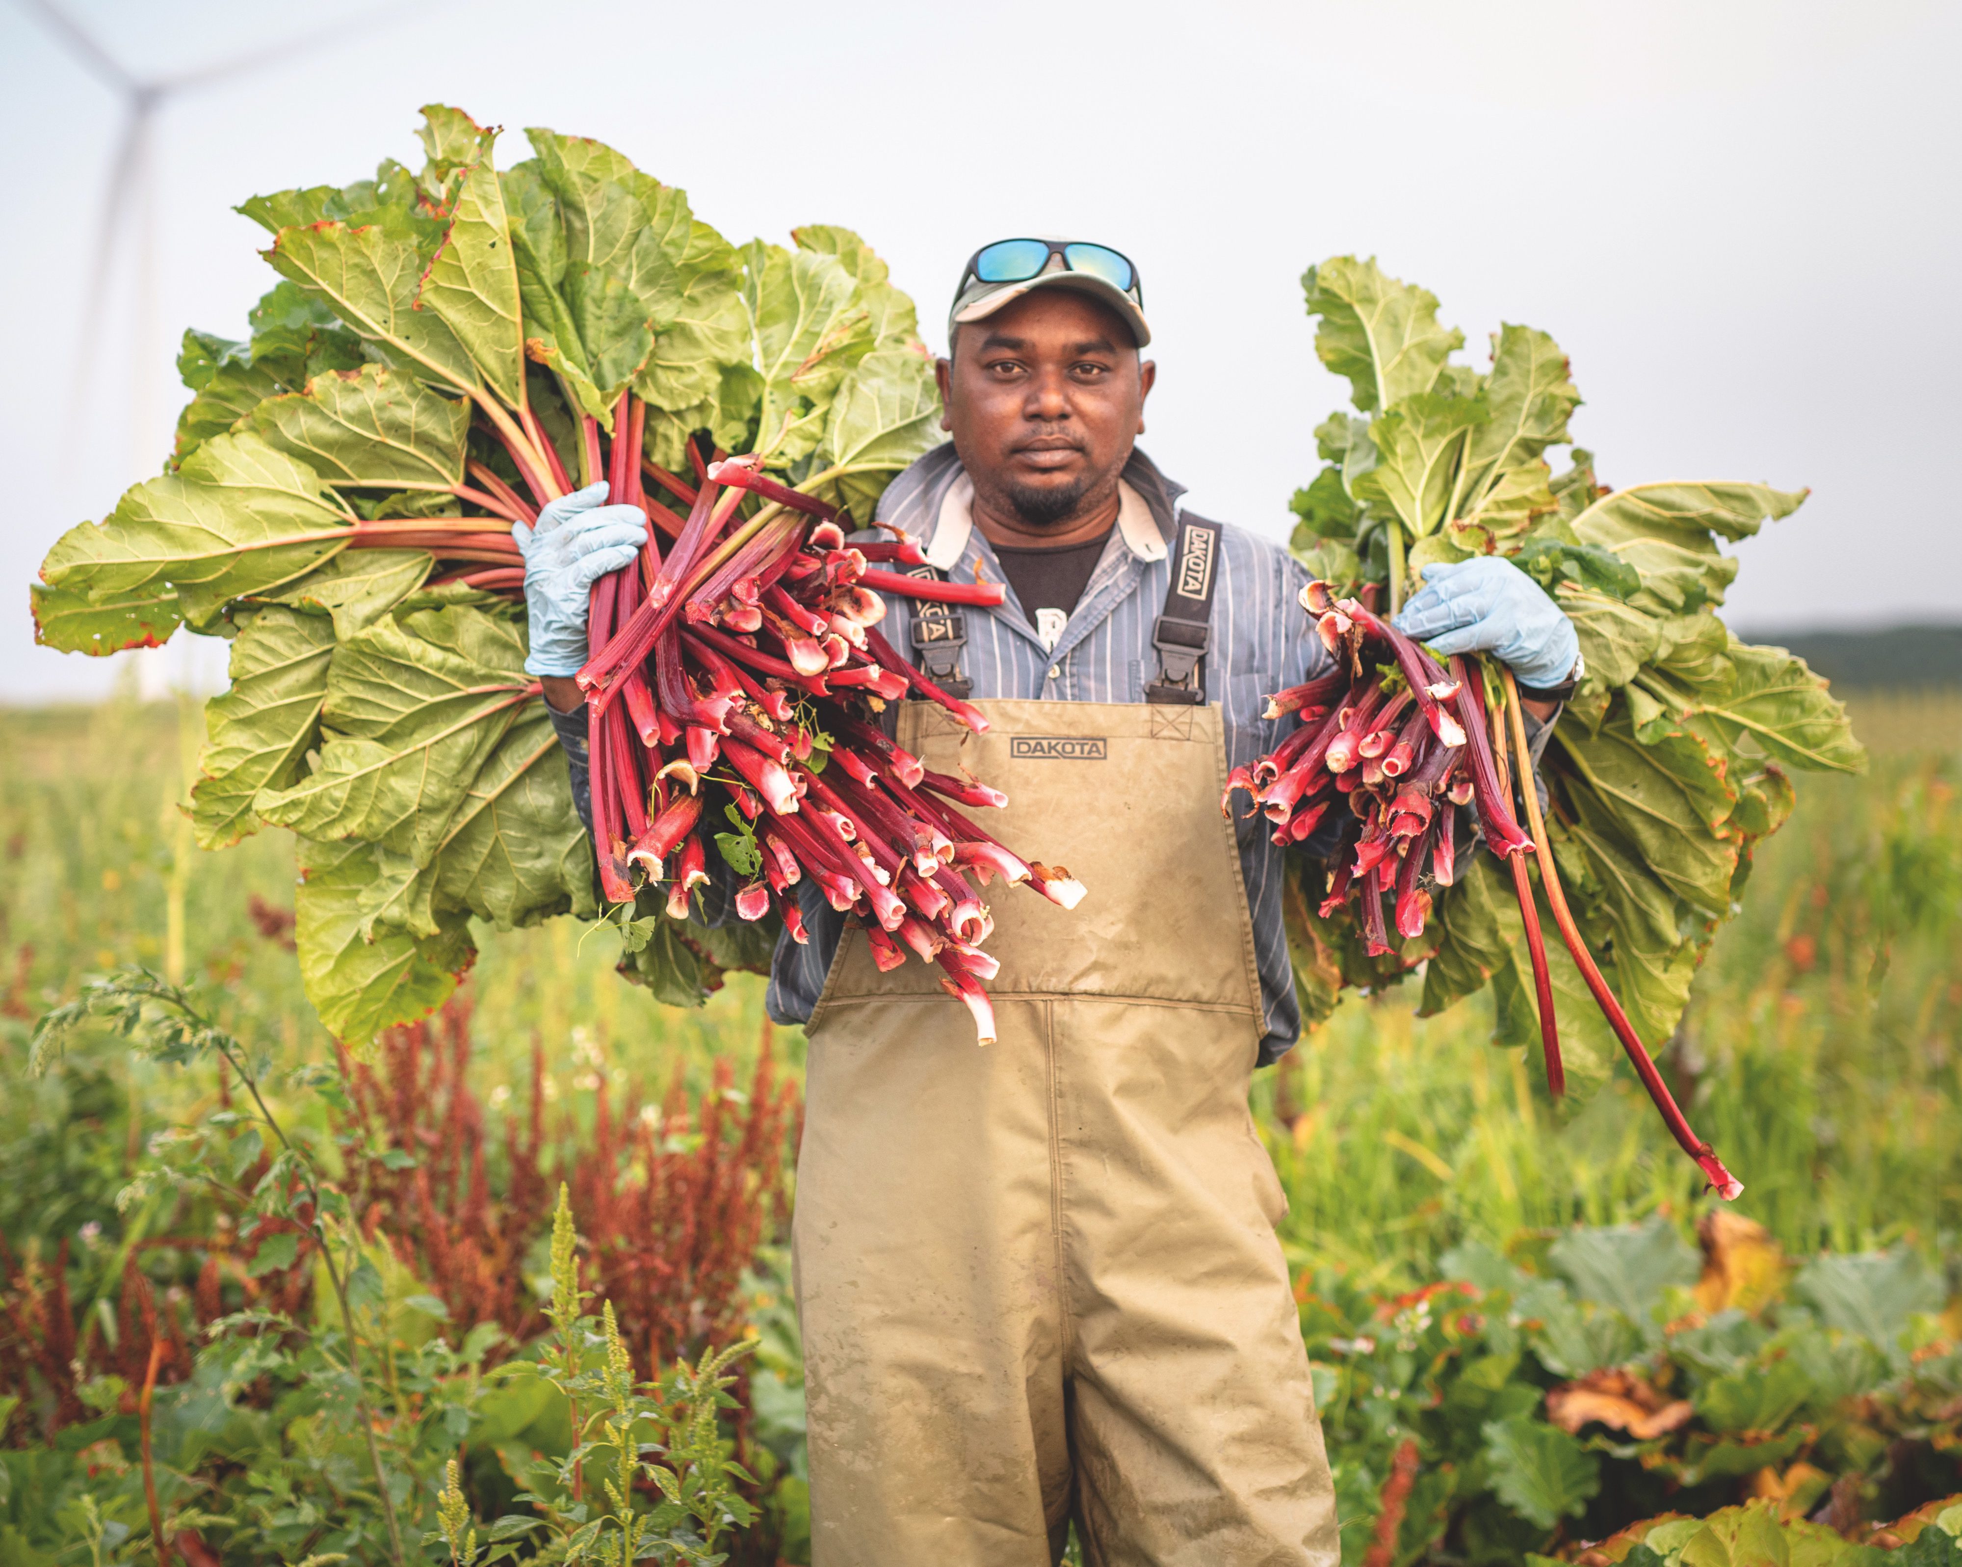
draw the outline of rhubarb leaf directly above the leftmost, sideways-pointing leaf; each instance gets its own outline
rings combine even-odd
[[[267,397],[253,430],[330,485],[447,491],[463,483],[471,405],[387,365],[316,375]]]

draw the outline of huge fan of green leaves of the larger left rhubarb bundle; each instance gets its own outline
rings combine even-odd
[[[857,236],[812,226],[789,249],[732,245],[596,141],[532,130],[534,157],[498,171],[494,130],[453,108],[424,116],[420,171],[390,159],[375,179],[243,204],[273,236],[281,283],[243,342],[184,336],[192,401],[165,473],[71,528],[33,589],[55,648],[112,654],[179,628],[232,640],[196,837],[298,835],[300,972],[349,1041],[441,1003],[475,954],[473,919],[508,929],[600,907],[524,674],[510,524],[616,461],[624,493],[716,450],[755,454],[757,483],[869,518],[940,438],[912,302]],[[712,493],[726,507],[746,491]],[[663,538],[679,534],[667,503],[681,495],[642,499]],[[783,542],[781,524],[763,528]],[[722,542],[704,518],[700,548]],[[871,597],[850,607],[865,617]],[[698,646],[748,636],[687,630]],[[706,668],[697,656],[679,677]],[[828,689],[875,685],[842,666]],[[961,929],[973,945],[977,927]],[[663,921],[628,939],[626,970],[697,1001],[720,970],[765,964],[773,933],[775,919]]]

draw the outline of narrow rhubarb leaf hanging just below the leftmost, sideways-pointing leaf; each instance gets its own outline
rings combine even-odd
[[[259,789],[283,789],[320,738],[334,622],[263,609],[232,642],[232,689],[204,707],[202,778],[190,789],[198,848],[224,848],[261,827]]]

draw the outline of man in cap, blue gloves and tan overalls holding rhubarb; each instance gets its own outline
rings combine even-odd
[[[1299,1033],[1281,850],[1218,813],[1226,770],[1279,738],[1264,695],[1326,660],[1305,577],[1183,514],[1136,450],[1156,369],[1120,253],[987,245],[948,340],[952,442],[879,522],[1012,591],[961,615],[893,601],[893,642],[991,721],[969,736],[908,701],[899,738],[1007,789],[1001,837],[1089,895],[1065,913],[997,890],[991,1049],[926,966],[881,974],[820,899],[810,945],[779,945],[771,1015],[810,1031],[814,1561],[1038,1567],[1073,1516],[1095,1563],[1334,1563],[1285,1198],[1246,1106]],[[630,509],[557,513],[528,540],[545,675],[577,668],[585,583],[640,538]],[[1566,617],[1499,560],[1434,571],[1403,624],[1528,687],[1575,664]],[[1550,717],[1560,693],[1536,695]],[[547,697],[577,707],[569,679]],[[577,772],[583,727],[561,732]]]

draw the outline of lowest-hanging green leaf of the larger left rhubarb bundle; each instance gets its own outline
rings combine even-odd
[[[383,1029],[449,1000],[471,966],[469,919],[453,915],[434,937],[363,933],[361,897],[377,882],[375,846],[300,840],[300,890],[292,899],[300,980],[328,1031],[365,1045]]]

